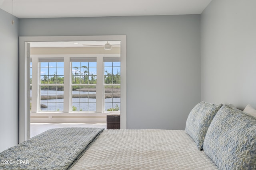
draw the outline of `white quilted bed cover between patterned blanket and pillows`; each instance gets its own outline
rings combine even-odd
[[[178,130],[105,130],[72,170],[216,170]]]

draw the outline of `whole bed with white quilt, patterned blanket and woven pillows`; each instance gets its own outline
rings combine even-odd
[[[256,118],[200,102],[185,130],[50,129],[0,161],[0,169],[256,170]]]

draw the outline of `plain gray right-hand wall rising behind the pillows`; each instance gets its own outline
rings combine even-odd
[[[201,14],[201,99],[256,108],[256,1],[213,0]]]

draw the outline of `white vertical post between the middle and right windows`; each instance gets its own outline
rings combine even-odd
[[[103,113],[104,104],[104,70],[103,57],[97,57],[96,112]]]

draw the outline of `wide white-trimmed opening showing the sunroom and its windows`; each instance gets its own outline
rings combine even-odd
[[[125,35],[20,37],[19,142],[30,122],[102,123],[112,112],[126,129]]]

